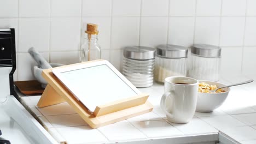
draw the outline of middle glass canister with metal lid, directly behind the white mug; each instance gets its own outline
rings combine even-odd
[[[159,45],[156,47],[154,77],[165,82],[168,76],[186,76],[188,49],[179,45]]]

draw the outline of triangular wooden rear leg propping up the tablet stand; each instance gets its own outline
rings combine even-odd
[[[51,85],[47,85],[46,88],[44,89],[44,92],[42,94],[42,97],[37,103],[38,107],[45,107],[45,106],[50,106],[50,105],[55,105],[55,104],[60,104],[65,102],[64,100],[55,90]]]

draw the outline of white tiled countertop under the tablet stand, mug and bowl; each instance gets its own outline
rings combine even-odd
[[[229,84],[246,79],[244,76],[225,77],[220,82]],[[91,129],[67,103],[38,108],[36,104],[40,96],[21,97],[20,101],[59,142],[215,143],[221,131],[237,142],[256,143],[256,82],[231,87],[221,107],[211,113],[196,112],[187,124],[167,121],[159,106],[164,85],[155,83],[139,90],[150,94],[153,112],[98,129]]]

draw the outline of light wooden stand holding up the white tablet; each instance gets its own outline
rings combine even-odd
[[[101,60],[96,60],[101,61]],[[84,63],[91,63],[84,62]],[[77,63],[81,64],[81,63]],[[72,65],[65,65],[63,68]],[[102,127],[107,124],[123,121],[127,118],[142,115],[153,110],[153,105],[147,101],[148,94],[139,94],[133,97],[114,101],[113,103],[97,106],[95,111],[90,112],[69,90],[62,84],[62,82],[52,73],[53,69],[43,70],[43,77],[48,81],[42,97],[38,101],[38,107],[50,106],[60,104],[65,101],[73,107],[73,109],[84,119],[91,128]]]

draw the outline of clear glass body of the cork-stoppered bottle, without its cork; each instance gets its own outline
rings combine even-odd
[[[80,62],[93,61],[101,58],[101,47],[97,34],[88,34],[80,49]]]

